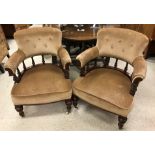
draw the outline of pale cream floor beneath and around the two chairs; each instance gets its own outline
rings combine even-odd
[[[17,47],[14,40],[9,40],[9,45],[11,54]],[[51,60],[46,57],[46,61]],[[124,131],[155,130],[155,58],[148,59],[147,64],[147,77],[138,87]],[[70,73],[72,79],[79,74],[75,67],[71,67]],[[0,130],[118,130],[116,115],[81,100],[79,108],[73,108],[69,115],[64,102],[57,102],[24,107],[26,117],[21,118],[11,101],[12,86],[12,77],[7,72],[0,73]]]

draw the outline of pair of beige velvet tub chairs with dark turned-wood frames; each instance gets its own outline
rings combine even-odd
[[[73,82],[69,78],[71,58],[62,46],[59,29],[19,30],[14,38],[18,50],[6,62],[5,70],[15,82],[11,97],[20,116],[24,116],[23,106],[62,100],[70,113],[72,105],[77,107],[80,98],[117,114],[118,127],[123,128],[133,106],[137,86],[146,74],[143,52],[148,38],[145,35],[122,28],[99,30],[96,46],[77,56],[81,72]],[[52,57],[51,63],[45,62],[47,54]],[[34,57],[38,55],[42,57],[40,64],[35,63]],[[32,66],[26,66],[26,59],[31,59]],[[119,67],[119,61],[125,63],[123,68]]]

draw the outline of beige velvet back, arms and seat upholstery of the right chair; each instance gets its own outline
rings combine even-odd
[[[143,52],[147,45],[148,38],[133,30],[122,28],[99,30],[96,46],[85,50],[76,58],[80,61],[81,67],[98,56],[118,58],[133,66],[132,76],[129,78],[114,68],[94,69],[73,82],[73,93],[92,105],[127,117],[133,106],[132,82],[136,78],[142,80],[146,76]]]

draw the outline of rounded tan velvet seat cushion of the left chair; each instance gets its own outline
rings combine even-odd
[[[35,66],[25,72],[12,88],[14,104],[42,104],[71,98],[71,81],[52,64]]]

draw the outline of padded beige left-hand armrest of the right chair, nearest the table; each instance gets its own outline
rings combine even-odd
[[[82,52],[81,54],[79,54],[76,57],[76,60],[78,60],[80,62],[80,67],[84,67],[89,61],[97,58],[99,56],[99,50],[96,46],[89,48],[87,50],[85,50],[84,52]]]

